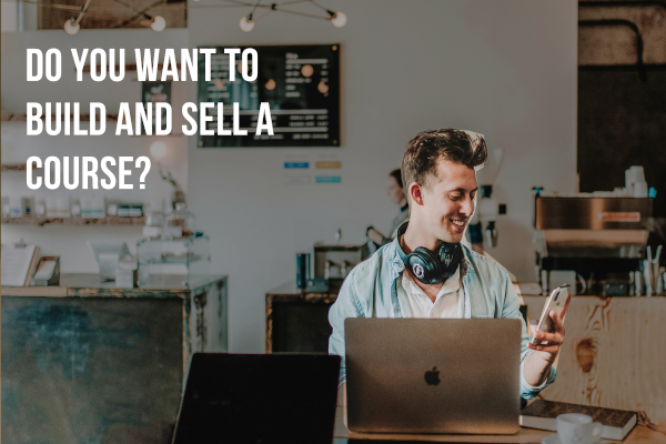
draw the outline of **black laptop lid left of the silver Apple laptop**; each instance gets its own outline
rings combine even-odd
[[[327,443],[340,356],[195,353],[172,444]]]

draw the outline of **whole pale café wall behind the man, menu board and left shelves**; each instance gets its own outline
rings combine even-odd
[[[400,167],[406,142],[418,131],[470,129],[484,133],[490,147],[505,149],[495,193],[507,204],[508,214],[498,221],[500,244],[491,254],[519,280],[534,280],[531,188],[543,185],[561,192],[575,188],[575,1],[325,3],[347,14],[344,28],[273,12],[244,33],[239,20],[250,8],[209,8],[220,3],[203,0],[190,2],[188,30],[160,34],[82,30],[69,40],[62,31],[18,33],[16,38],[12,33],[13,40],[2,36],[3,109],[24,107],[37,97],[43,102],[63,100],[63,92],[77,93],[74,85],[63,87],[64,91],[47,88],[32,92],[20,81],[8,81],[8,75],[23,78],[21,67],[8,68],[7,62],[22,65],[19,56],[27,44],[193,48],[342,43],[342,148],[198,149],[195,138],[188,139],[188,201],[198,226],[211,238],[212,271],[230,276],[230,346],[234,352],[263,351],[264,293],[294,279],[296,252],[309,250],[315,241],[334,242],[339,228],[345,243],[361,243],[370,224],[387,231],[396,209],[385,195],[386,174]],[[315,7],[301,8],[317,13]],[[102,94],[103,100],[114,102],[120,97],[138,100],[139,93],[131,91],[134,87],[104,87],[105,92],[94,89],[88,95]],[[195,100],[194,84],[188,92],[189,99]],[[4,131],[7,124],[2,128]],[[46,141],[23,142],[21,147],[31,148],[26,152],[48,149]],[[3,162],[6,143],[3,134]],[[80,148],[85,144],[75,143]],[[143,139],[124,138],[109,147],[120,152],[124,147],[139,150],[144,143]],[[336,158],[343,165],[342,183],[283,184],[287,155],[310,161]],[[7,180],[3,174],[3,195]],[[61,254],[65,271],[90,271],[81,238],[111,233],[110,229],[92,230],[8,225],[2,226],[2,242],[19,234],[27,240],[30,236],[48,244],[49,252]],[[119,238],[134,235],[113,232]]]

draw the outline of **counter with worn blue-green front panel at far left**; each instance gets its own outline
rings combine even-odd
[[[228,350],[226,276],[1,287],[2,440],[168,443],[194,352]]]

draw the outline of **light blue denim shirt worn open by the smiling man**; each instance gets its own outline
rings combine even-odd
[[[516,317],[522,322],[523,339],[521,346],[521,396],[531,400],[544,387],[555,381],[555,367],[544,384],[529,385],[523,377],[523,365],[531,336],[525,320],[518,310],[519,300],[506,269],[492,259],[485,258],[467,246],[463,246],[464,259],[461,263],[463,285],[463,317]],[[344,320],[347,317],[371,317],[373,311],[373,290],[375,294],[375,316],[411,317],[410,303],[402,289],[396,287],[397,279],[404,265],[397,253],[397,239],[382,246],[371,258],[360,263],[344,280],[337,300],[329,311],[329,322],[333,333],[329,340],[329,353],[342,357],[339,384],[346,381],[344,361]],[[376,286],[375,286],[376,281]]]

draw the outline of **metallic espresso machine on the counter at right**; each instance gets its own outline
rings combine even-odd
[[[645,259],[653,199],[628,196],[542,196],[535,194],[536,272],[543,294],[573,276],[576,294],[645,294]],[[569,282],[565,282],[569,283]],[[576,286],[578,289],[576,289]]]

